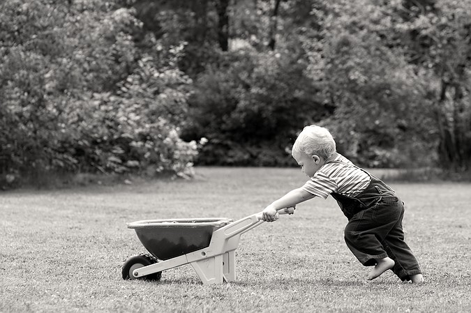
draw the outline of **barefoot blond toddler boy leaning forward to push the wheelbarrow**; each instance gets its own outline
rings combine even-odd
[[[424,282],[419,263],[404,241],[404,205],[394,190],[337,153],[326,128],[304,128],[292,156],[311,179],[267,206],[263,220],[274,222],[278,210],[330,194],[348,219],[345,243],[361,264],[374,266],[368,280],[391,269],[403,281]]]

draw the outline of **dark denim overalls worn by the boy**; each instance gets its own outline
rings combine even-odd
[[[371,182],[357,196],[331,193],[348,219],[345,243],[364,266],[375,266],[375,259],[390,257],[396,263],[392,268],[394,273],[403,281],[410,280],[410,275],[421,274],[421,270],[404,241],[403,201],[380,179],[364,172],[371,177]]]

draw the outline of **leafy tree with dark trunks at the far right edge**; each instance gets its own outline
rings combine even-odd
[[[471,1],[403,1],[398,36],[429,82],[440,165],[471,169]]]

